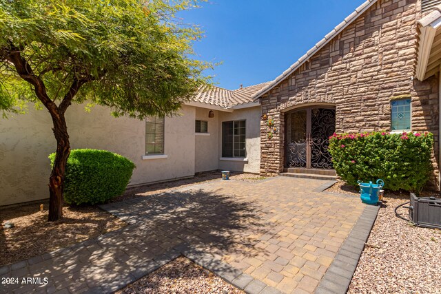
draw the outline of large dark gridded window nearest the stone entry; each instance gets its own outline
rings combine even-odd
[[[245,120],[222,123],[222,157],[245,157]]]

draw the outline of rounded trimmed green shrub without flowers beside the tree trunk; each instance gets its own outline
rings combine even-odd
[[[55,154],[50,154],[53,165]],[[110,151],[74,149],[70,151],[64,182],[68,204],[100,204],[121,195],[135,165]]]

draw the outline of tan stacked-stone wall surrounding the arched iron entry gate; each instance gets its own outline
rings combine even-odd
[[[296,72],[260,98],[278,134],[267,138],[260,123],[260,173],[284,167],[284,112],[309,103],[336,106],[337,132],[369,132],[391,127],[390,99],[411,95],[412,131],[435,136],[438,157],[438,76],[412,79],[420,0],[379,0]],[[306,29],[306,28],[305,28]],[[438,176],[438,158],[433,158]],[[438,182],[438,181],[437,181]]]

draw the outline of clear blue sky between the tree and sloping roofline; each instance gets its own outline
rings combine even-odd
[[[201,25],[198,59],[222,61],[207,74],[234,90],[276,78],[364,1],[209,0],[179,17]]]

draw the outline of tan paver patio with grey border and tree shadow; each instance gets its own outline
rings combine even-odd
[[[338,293],[349,285],[378,209],[321,192],[326,185],[218,180],[105,204],[130,225],[0,268],[1,277],[20,279],[0,291],[109,293],[183,254],[248,293]],[[48,284],[21,284],[22,277],[47,277]]]

